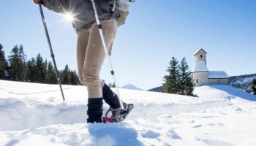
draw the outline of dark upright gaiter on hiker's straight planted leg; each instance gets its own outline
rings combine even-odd
[[[87,123],[102,123],[102,98],[88,99]]]

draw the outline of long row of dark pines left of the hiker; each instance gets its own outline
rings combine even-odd
[[[51,61],[43,59],[40,54],[27,61],[23,45],[15,45],[8,59],[5,57],[4,47],[0,44],[0,79],[57,84],[56,72]],[[78,74],[65,66],[59,71],[61,82],[66,85],[79,85]]]

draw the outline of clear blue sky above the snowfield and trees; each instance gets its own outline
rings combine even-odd
[[[208,52],[209,70],[230,76],[256,73],[255,8],[255,0],[137,0],[113,46],[118,85],[162,85],[170,58],[186,57],[192,69],[192,54],[200,47]],[[77,69],[75,30],[63,15],[44,10],[59,69],[65,64]],[[28,58],[41,53],[51,59],[39,9],[30,0],[0,1],[0,32],[7,55],[22,44]],[[112,82],[108,64],[101,77]]]

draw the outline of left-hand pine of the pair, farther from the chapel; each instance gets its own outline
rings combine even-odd
[[[164,77],[164,92],[165,93],[179,93],[178,80],[180,78],[179,65],[176,58],[172,58],[170,66],[167,69],[168,74]]]

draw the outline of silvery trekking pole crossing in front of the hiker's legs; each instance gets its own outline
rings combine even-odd
[[[94,7],[94,15],[95,15],[95,19],[96,19],[96,22],[97,22],[97,26],[99,28],[99,34],[100,34],[100,37],[102,39],[102,44],[103,44],[103,47],[104,47],[104,50],[105,50],[105,54],[108,56],[108,63],[109,63],[109,67],[110,67],[110,72],[111,72],[111,75],[113,77],[113,81],[114,81],[114,84],[115,84],[115,87],[116,87],[116,92],[117,92],[118,99],[119,99],[119,102],[120,102],[120,105],[121,105],[121,109],[124,110],[123,101],[121,100],[121,96],[120,96],[120,93],[118,91],[118,86],[117,86],[117,82],[116,82],[115,72],[113,70],[113,66],[112,66],[112,62],[111,62],[110,56],[108,55],[108,45],[106,43],[105,36],[103,34],[102,24],[100,23],[100,20],[99,20],[99,15],[98,15],[98,12],[97,12],[95,1],[91,0],[91,4]]]

